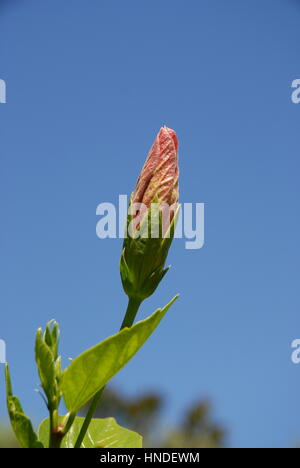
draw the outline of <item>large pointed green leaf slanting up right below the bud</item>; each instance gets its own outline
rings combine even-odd
[[[102,388],[143,346],[155,330],[174,299],[146,320],[124,328],[78,356],[63,373],[62,390],[68,410],[76,413]]]

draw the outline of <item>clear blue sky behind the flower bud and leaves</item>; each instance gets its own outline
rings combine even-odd
[[[0,2],[0,338],[36,421],[35,329],[56,318],[65,357],[117,330],[121,241],[96,237],[96,206],[167,124],[206,244],[173,244],[140,316],[181,298],[114,383],[161,390],[170,422],[209,396],[235,447],[300,440],[299,26],[298,0]]]

